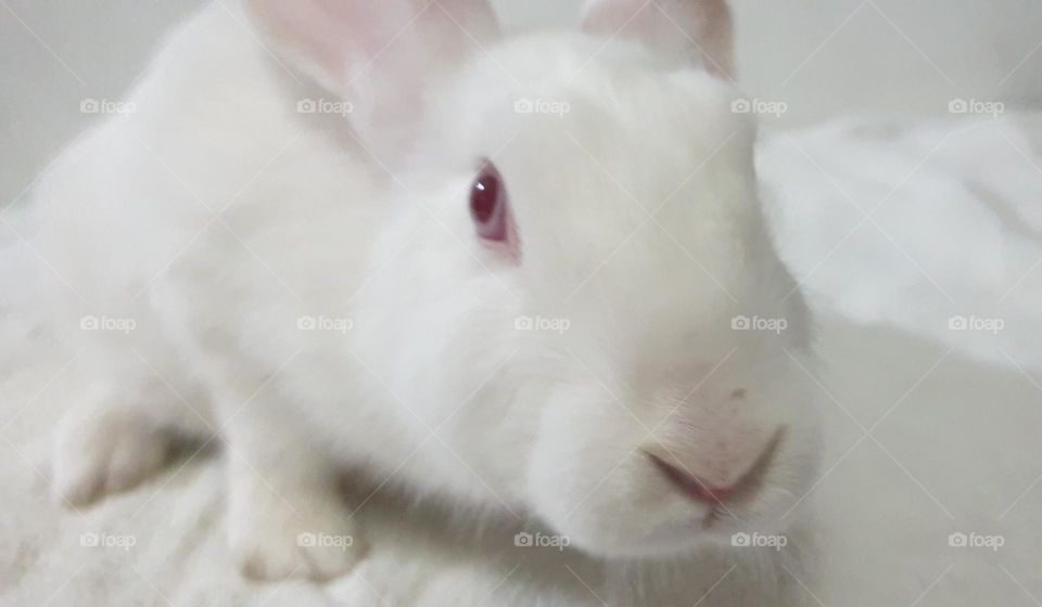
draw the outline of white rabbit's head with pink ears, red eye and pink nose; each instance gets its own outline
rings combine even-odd
[[[387,175],[358,348],[452,451],[444,485],[601,555],[784,518],[817,451],[810,328],[722,0],[508,39],[480,0],[253,9]]]

